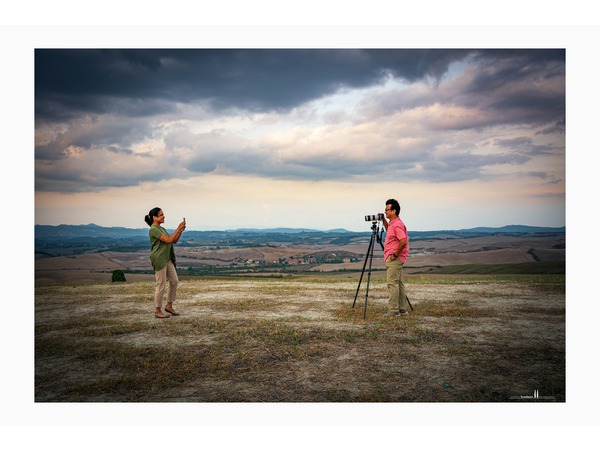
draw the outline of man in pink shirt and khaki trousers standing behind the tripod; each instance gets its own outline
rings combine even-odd
[[[408,256],[408,231],[404,222],[398,217],[399,214],[400,205],[397,200],[390,199],[385,202],[386,218],[383,219],[383,227],[386,230],[386,236],[383,258],[387,268],[388,314],[392,316],[408,314],[408,299],[402,276],[402,266]]]

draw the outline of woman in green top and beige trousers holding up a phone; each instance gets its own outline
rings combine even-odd
[[[162,312],[162,299],[167,281],[169,281],[169,288],[167,290],[167,306],[165,307],[165,311],[178,316],[179,313],[173,309],[173,301],[175,300],[177,285],[179,284],[177,270],[175,269],[173,244],[179,241],[183,230],[185,230],[185,218],[172,235],[169,235],[167,230],[162,227],[162,224],[165,222],[165,215],[162,209],[151,209],[148,215],[144,217],[144,220],[150,226],[150,231],[148,232],[152,245],[150,261],[156,273],[156,290],[154,291],[154,307],[156,311],[154,317],[157,319],[169,317]]]

